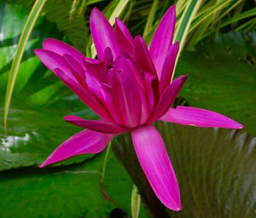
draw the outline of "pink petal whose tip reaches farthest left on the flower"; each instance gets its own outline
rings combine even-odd
[[[62,72],[65,72],[68,77],[76,80],[73,73],[67,67],[66,61],[60,54],[45,49],[35,49],[34,52],[37,54],[38,59],[41,60],[50,71],[55,73],[55,68],[59,68]]]

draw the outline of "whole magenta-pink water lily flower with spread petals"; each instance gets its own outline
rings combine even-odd
[[[115,29],[98,9],[90,14],[90,31],[98,59],[90,59],[56,39],[36,49],[38,58],[67,84],[98,120],[66,116],[65,120],[85,128],[47,158],[40,167],[85,153],[97,153],[111,139],[126,131],[155,195],[162,204],[180,210],[177,178],[160,133],[152,123],[162,120],[198,127],[241,129],[242,125],[217,112],[189,106],[171,108],[187,76],[172,83],[179,49],[172,43],[175,7],[160,21],[148,49],[143,38],[131,37],[125,24],[116,19]]]

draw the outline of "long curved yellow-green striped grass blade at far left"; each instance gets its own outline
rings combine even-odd
[[[17,45],[17,49],[15,52],[15,58],[13,60],[10,72],[9,72],[9,80],[7,83],[7,89],[6,89],[6,95],[5,95],[5,103],[4,103],[4,131],[5,134],[7,133],[7,118],[9,113],[9,106],[10,101],[12,98],[12,94],[15,88],[15,80],[17,77],[17,74],[19,72],[20,67],[20,61],[22,59],[22,56],[24,54],[24,51],[26,49],[26,43],[28,41],[28,38],[31,35],[32,28],[35,25],[36,21],[38,20],[38,15],[40,14],[41,10],[44,7],[44,3],[46,0],[37,0],[32,10],[26,20],[26,24],[21,32],[19,43]]]

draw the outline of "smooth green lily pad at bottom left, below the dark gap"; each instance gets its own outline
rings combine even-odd
[[[119,204],[102,198],[103,159],[101,153],[80,164],[0,172],[0,217],[107,218],[115,208],[130,214],[131,179],[112,152],[104,185]]]

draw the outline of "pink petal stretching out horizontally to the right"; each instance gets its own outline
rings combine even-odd
[[[218,127],[227,129],[243,128],[240,123],[236,123],[236,121],[227,118],[218,112],[211,112],[190,106],[177,106],[176,109],[170,108],[160,120],[198,127]]]

